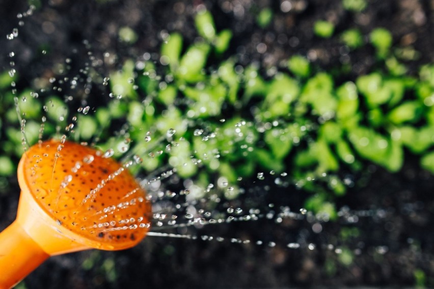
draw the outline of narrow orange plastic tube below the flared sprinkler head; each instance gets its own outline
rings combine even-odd
[[[0,289],[11,288],[49,255],[14,221],[0,233]]]

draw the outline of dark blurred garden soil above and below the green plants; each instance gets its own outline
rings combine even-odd
[[[103,2],[103,1],[99,1]],[[125,0],[68,2],[43,1],[42,8],[24,19],[16,41],[0,39],[2,55],[16,54],[15,62],[22,87],[32,85],[35,77],[53,75],[53,64],[72,57],[76,69],[89,61],[87,51],[103,57],[117,55],[107,69],[122,64],[126,57],[141,59],[145,52],[158,57],[158,47],[166,32],[179,31],[185,43],[197,37],[193,15],[206,6],[214,16],[218,31],[229,28],[234,33],[231,46],[223,56],[237,54],[241,65],[261,64],[264,72],[281,67],[294,53],[308,55],[324,70],[333,70],[342,61],[337,40],[321,40],[312,34],[316,20],[335,23],[336,33],[358,26],[366,35],[374,27],[388,28],[394,45],[412,45],[420,58],[408,63],[416,74],[421,64],[434,60],[434,2],[422,0],[368,1],[360,14],[343,10],[340,0],[291,0],[291,10],[282,12],[280,1],[166,1]],[[16,15],[26,11],[23,2],[2,0],[0,35],[17,25]],[[270,7],[275,13],[266,28],[256,23],[258,11]],[[122,44],[117,31],[129,26],[139,34],[133,45]],[[83,43],[87,40],[86,43]],[[266,44],[259,53],[257,45]],[[47,49],[45,55],[42,50]],[[370,72],[375,64],[371,48],[349,54],[351,74]],[[0,69],[9,69],[9,59],[0,59]],[[4,136],[2,136],[4,137]],[[368,166],[364,174],[353,176],[355,186],[337,200],[338,207],[352,210],[376,210],[374,216],[360,217],[356,227],[360,235],[346,245],[358,254],[350,265],[339,262],[339,255],[327,248],[336,243],[343,221],[322,224],[320,234],[312,233],[312,223],[270,221],[209,225],[196,234],[199,240],[149,237],[140,245],[119,252],[85,251],[48,259],[25,280],[26,288],[277,288],[341,286],[412,286],[415,272],[422,270],[428,286],[434,286],[434,177],[419,168],[417,159],[406,155],[404,168],[391,174]],[[10,224],[16,214],[19,187],[16,177],[3,186],[0,194],[0,229]],[[252,181],[252,180],[251,180]],[[275,189],[273,184],[246,185],[260,204],[301,208],[306,194],[295,188]],[[264,193],[269,185],[272,192]],[[256,186],[256,187],[255,187]],[[250,244],[203,241],[200,236],[241,238]],[[255,245],[263,240],[264,245]],[[275,246],[268,246],[275,242]],[[309,248],[288,249],[289,242],[313,243]],[[325,246],[325,247],[324,247]],[[93,265],[88,266],[92,261]],[[1,274],[1,272],[0,272]]]

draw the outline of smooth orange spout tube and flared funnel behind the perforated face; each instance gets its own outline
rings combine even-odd
[[[16,220],[0,233],[0,289],[16,285],[49,256],[90,248],[74,239],[22,191]]]

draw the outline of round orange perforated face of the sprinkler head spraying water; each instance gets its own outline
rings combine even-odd
[[[57,140],[34,145],[21,158],[18,181],[74,242],[119,250],[149,230],[145,191],[128,169],[90,147]]]

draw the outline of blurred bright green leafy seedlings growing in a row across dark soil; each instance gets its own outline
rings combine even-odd
[[[361,11],[364,3],[344,1],[344,6]],[[267,26],[272,17],[272,11],[261,11],[258,25]],[[117,148],[116,157],[131,142],[131,154],[143,156],[145,171],[170,164],[183,178],[197,176],[203,191],[215,176],[224,176],[232,197],[239,192],[237,180],[258,171],[288,176],[297,188],[313,193],[306,208],[330,219],[336,218],[334,196],[351,185],[342,172],[358,172],[369,163],[397,171],[409,151],[434,174],[434,65],[422,66],[418,76],[406,75],[399,56],[404,52],[395,54],[385,28],[368,35],[350,28],[336,36],[352,50],[372,45],[378,62],[369,74],[337,82],[304,55],[291,56],[286,67],[265,77],[255,64],[241,67],[235,57],[222,57],[232,33],[217,31],[208,11],[200,11],[195,23],[200,39],[189,44],[170,34],[161,45],[161,66],[127,60],[110,73],[111,101],[95,111],[81,108],[72,138]],[[327,21],[313,29],[324,38],[334,33]],[[131,32],[124,27],[119,36],[133,42],[137,36]],[[65,101],[52,95],[42,102],[31,90],[13,95],[16,77],[0,75],[2,120],[18,123],[16,98],[29,142],[37,141],[45,117],[44,135],[61,134],[75,115]],[[114,133],[111,125],[119,122],[126,124]],[[1,133],[3,155],[19,157],[19,125]],[[16,158],[0,159],[0,175],[12,174]],[[198,174],[198,167],[207,173]],[[340,262],[351,258],[342,254]]]

